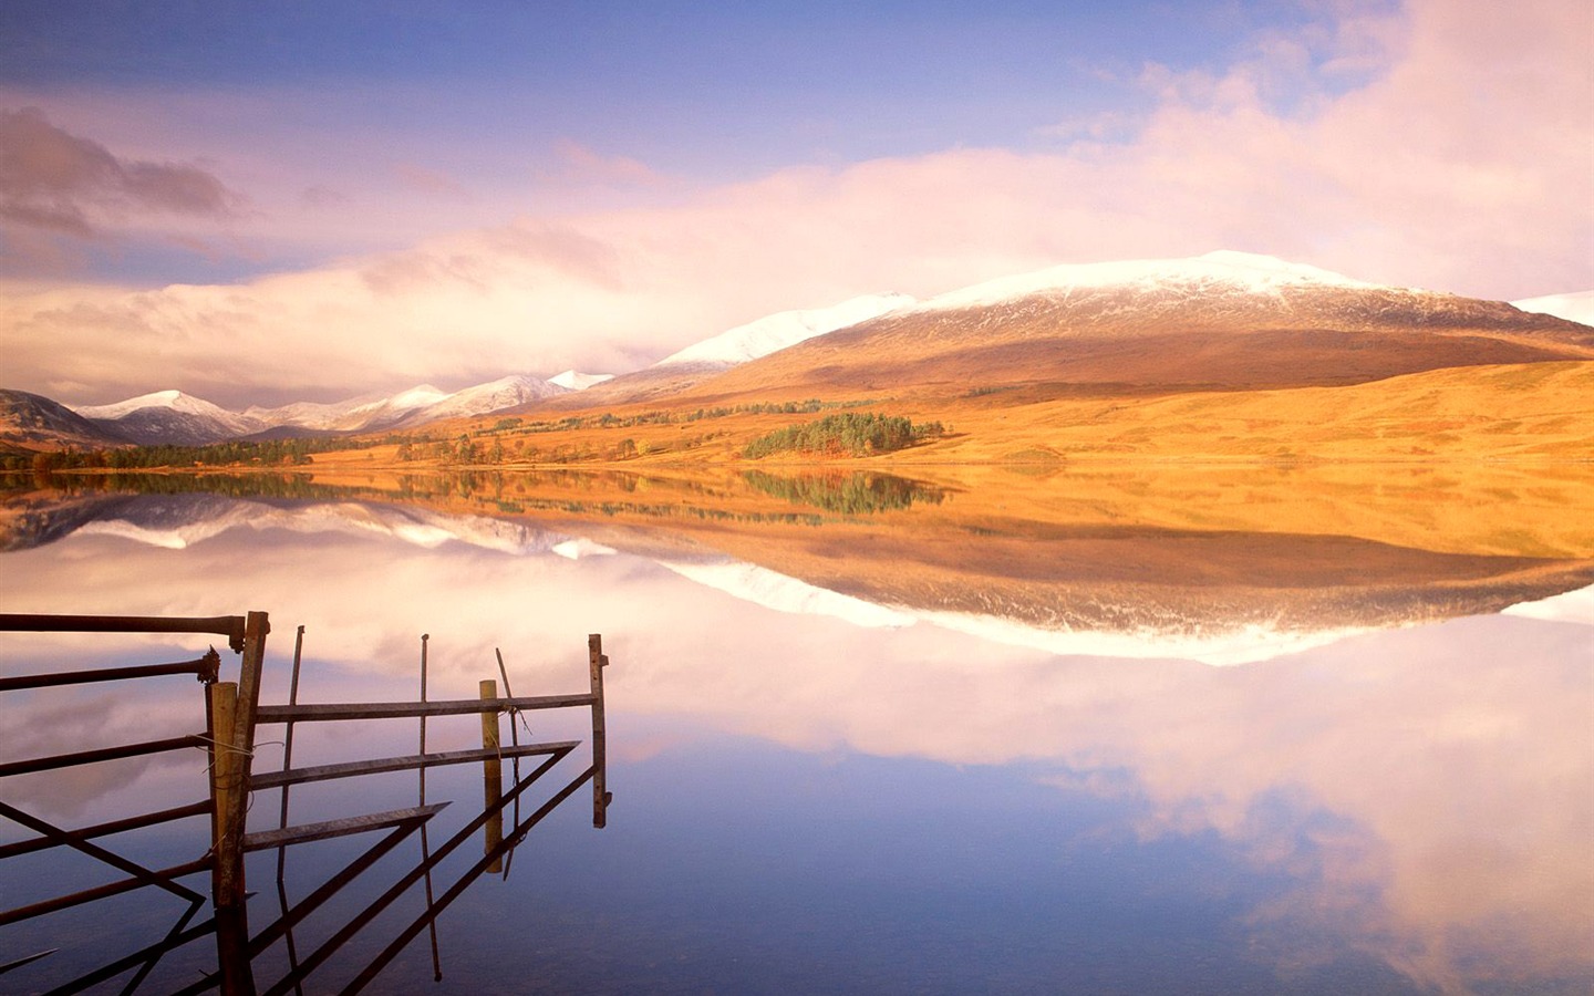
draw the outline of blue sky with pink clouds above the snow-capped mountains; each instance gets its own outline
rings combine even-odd
[[[620,373],[1215,249],[1591,290],[1591,48],[1586,0],[8,0],[0,386]]]

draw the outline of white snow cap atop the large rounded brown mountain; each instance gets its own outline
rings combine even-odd
[[[998,277],[925,301],[921,311],[980,308],[1035,295],[1070,295],[1074,290],[1125,288],[1135,292],[1245,292],[1277,295],[1294,287],[1369,290],[1376,284],[1247,252],[1208,252],[1188,260],[1124,260],[1119,263],[1068,263],[1035,273]]]

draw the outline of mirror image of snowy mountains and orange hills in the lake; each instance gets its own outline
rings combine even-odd
[[[233,486],[244,492],[247,483]],[[1408,535],[1388,526],[1369,537],[1277,523],[1200,529],[1135,523],[1113,508],[1092,512],[1092,502],[1084,512],[1058,502],[1055,521],[1046,521],[1036,512],[1044,502],[1027,504],[1023,488],[1054,500],[1079,496],[1033,481],[998,494],[995,508],[979,492],[878,473],[713,481],[563,473],[434,484],[403,483],[410,504],[375,486],[340,497],[324,484],[300,484],[316,500],[32,492],[8,502],[3,548],[75,529],[174,548],[228,529],[290,529],[512,555],[556,551],[580,537],[783,612],[862,625],[918,618],[1057,653],[1211,663],[1594,585],[1594,558],[1581,547],[1553,551],[1532,532],[1513,535],[1508,550],[1492,540],[1457,548],[1438,535],[1412,547],[1380,539]],[[1154,496],[1144,507],[1156,508]],[[1411,515],[1427,521],[1436,510]]]

